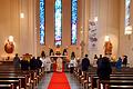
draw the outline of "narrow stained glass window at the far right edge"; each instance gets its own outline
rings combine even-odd
[[[131,0],[125,0],[125,34],[132,33],[131,19]]]

